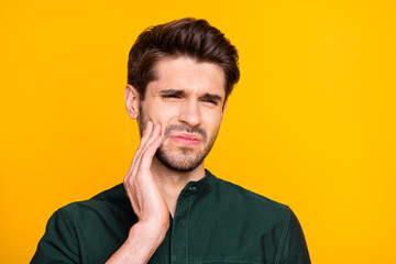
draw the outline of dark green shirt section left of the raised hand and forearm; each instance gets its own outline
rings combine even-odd
[[[123,185],[69,204],[50,218],[32,263],[103,263],[135,220]]]

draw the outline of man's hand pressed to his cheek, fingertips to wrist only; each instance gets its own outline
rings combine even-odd
[[[161,125],[148,121],[124,177],[124,187],[140,223],[166,226],[167,229],[169,210],[151,172],[154,154],[163,140]]]

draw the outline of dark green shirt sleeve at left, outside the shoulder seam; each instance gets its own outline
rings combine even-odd
[[[62,210],[48,220],[31,264],[79,263],[78,243]]]

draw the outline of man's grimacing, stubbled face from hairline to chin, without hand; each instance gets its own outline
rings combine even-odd
[[[140,106],[140,131],[148,120],[162,125],[155,156],[168,168],[190,172],[212,147],[223,116],[224,73],[212,63],[177,57],[160,61],[157,79]]]

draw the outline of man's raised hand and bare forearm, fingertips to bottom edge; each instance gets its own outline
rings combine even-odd
[[[147,263],[165,238],[169,210],[151,172],[154,154],[163,141],[161,125],[148,121],[124,177],[127,195],[139,221],[107,264]]]

